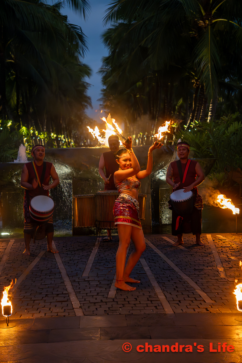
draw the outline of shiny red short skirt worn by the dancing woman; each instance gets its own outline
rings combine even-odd
[[[114,220],[117,224],[128,224],[142,229],[139,220],[138,201],[131,196],[122,193],[114,203]]]

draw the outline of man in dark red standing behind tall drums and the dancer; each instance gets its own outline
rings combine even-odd
[[[118,135],[111,135],[108,138],[108,146],[110,151],[103,152],[99,161],[98,171],[101,178],[104,180],[104,191],[117,190],[114,184],[114,173],[119,169],[116,163],[116,153],[119,150],[119,137]],[[105,172],[104,172],[105,167]],[[107,237],[103,241],[111,241],[111,229],[107,230]]]

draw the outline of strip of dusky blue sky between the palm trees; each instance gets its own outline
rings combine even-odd
[[[99,103],[98,98],[101,97],[101,77],[96,73],[101,67],[101,59],[107,55],[107,50],[104,48],[101,41],[101,34],[104,32],[103,16],[104,11],[109,3],[108,0],[89,0],[91,4],[91,13],[89,18],[84,21],[83,18],[75,15],[70,9],[62,9],[63,15],[68,16],[68,20],[71,24],[81,26],[83,32],[87,36],[88,49],[84,62],[88,64],[92,69],[92,76],[87,79],[87,82],[91,84],[88,94],[91,96],[93,109],[88,109],[87,114],[100,121],[99,118]],[[95,110],[98,110],[95,112]]]

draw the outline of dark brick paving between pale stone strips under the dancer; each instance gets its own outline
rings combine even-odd
[[[242,278],[239,268],[242,249],[231,242],[221,241],[216,234],[212,234],[227,274],[225,279],[218,274],[205,234],[202,235],[204,247],[197,246],[193,236],[185,235],[186,249],[173,247],[170,242],[161,238],[162,236],[175,241],[175,237],[170,235],[149,235],[146,238],[213,300],[213,304],[206,303],[175,270],[150,246],[147,246],[142,258],[145,258],[173,311],[175,313],[236,312],[233,290],[235,278],[240,279],[239,282]],[[240,242],[242,247],[241,234],[222,234],[222,236]],[[8,242],[7,239],[0,240],[0,258]],[[137,289],[132,292],[117,290],[114,299],[107,298],[115,274],[117,237],[108,243],[101,242],[88,278],[82,278],[82,272],[94,247],[95,237],[58,237],[55,238],[55,243],[84,315],[164,313],[140,262],[133,272],[133,276],[137,276],[141,281]],[[36,242],[32,245],[33,254],[23,256],[24,241],[21,238],[15,239],[0,275],[0,289],[3,285],[8,285],[11,278],[18,278],[45,248],[46,242]],[[128,255],[131,251],[132,244]],[[14,309],[12,317],[16,318],[75,315],[55,257],[47,252],[13,292],[12,302]]]

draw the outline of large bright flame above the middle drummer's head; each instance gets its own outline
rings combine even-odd
[[[106,123],[106,130],[99,130],[97,126],[95,126],[95,129],[91,129],[89,126],[87,126],[87,129],[91,134],[93,135],[94,139],[97,138],[98,142],[102,145],[108,146],[108,138],[111,135],[123,135],[123,131],[120,129],[118,124],[115,122],[114,118],[111,118],[111,115],[109,114],[107,118],[102,117],[102,121]],[[100,134],[100,131],[105,133],[105,137],[103,138]],[[122,146],[122,142],[119,140],[120,146]]]

